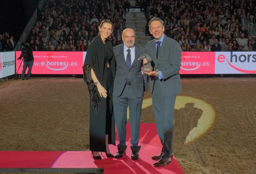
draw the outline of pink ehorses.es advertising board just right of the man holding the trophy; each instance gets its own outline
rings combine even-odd
[[[214,74],[215,52],[182,52],[180,74]]]

